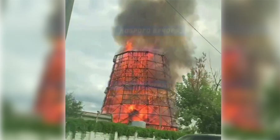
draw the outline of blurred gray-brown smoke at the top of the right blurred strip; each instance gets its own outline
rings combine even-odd
[[[226,0],[222,1],[222,31],[227,31],[256,54],[268,57],[267,21],[279,19],[279,0]],[[238,31],[238,32],[236,32]],[[267,53],[267,54],[264,54]]]

